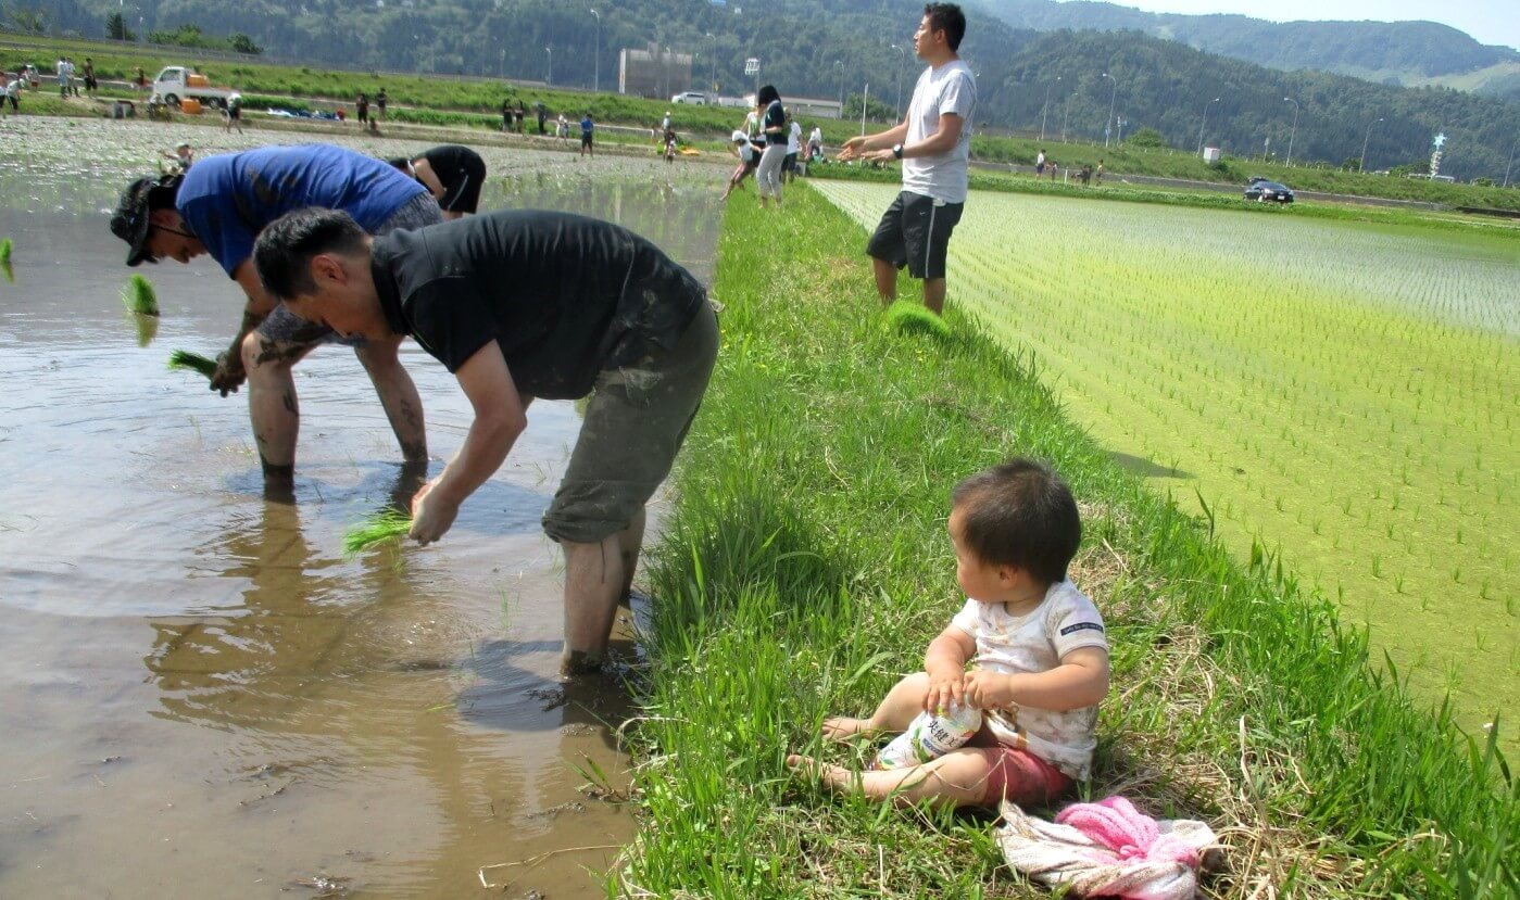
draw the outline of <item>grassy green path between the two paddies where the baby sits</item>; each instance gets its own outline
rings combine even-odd
[[[765,234],[766,240],[755,240]],[[959,606],[956,480],[1044,457],[1084,508],[1073,578],[1114,645],[1093,797],[1207,820],[1218,895],[1490,895],[1515,885],[1520,804],[1482,741],[1418,712],[1269,554],[1125,475],[1038,373],[952,311],[886,331],[860,228],[810,190],[730,206],[724,349],[651,587],[634,895],[973,897],[1024,889],[988,823],[822,795],[786,769],[828,713],[865,713]],[[648,892],[648,894],[646,894]]]

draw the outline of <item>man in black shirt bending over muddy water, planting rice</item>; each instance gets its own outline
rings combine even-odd
[[[527,426],[532,398],[591,396],[544,513],[565,554],[562,668],[599,668],[643,543],[717,357],[702,285],[634,232],[503,209],[371,238],[345,212],[301,209],[258,237],[271,296],[344,335],[409,334],[459,379],[474,422],[412,501],[412,537],[442,537]]]

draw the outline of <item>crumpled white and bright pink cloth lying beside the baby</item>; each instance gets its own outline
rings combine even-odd
[[[1123,797],[1076,803],[1053,823],[1012,803],[1002,812],[997,842],[1008,865],[1076,897],[1192,900],[1199,856],[1216,842],[1204,823],[1157,821]]]

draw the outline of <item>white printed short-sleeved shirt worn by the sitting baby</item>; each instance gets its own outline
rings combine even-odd
[[[1070,581],[1052,584],[1032,612],[1011,616],[1000,603],[967,599],[952,625],[976,640],[977,668],[1002,674],[1049,672],[1082,647],[1108,650],[1104,616]],[[1097,747],[1097,706],[1067,712],[1015,706],[986,710],[993,735],[1076,780],[1085,780]]]

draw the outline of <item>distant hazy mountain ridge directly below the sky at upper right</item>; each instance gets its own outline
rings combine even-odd
[[[1433,21],[1286,21],[1143,12],[1113,3],[976,0],[1018,29],[1137,30],[1269,65],[1398,85],[1446,85],[1520,100],[1520,50]]]

